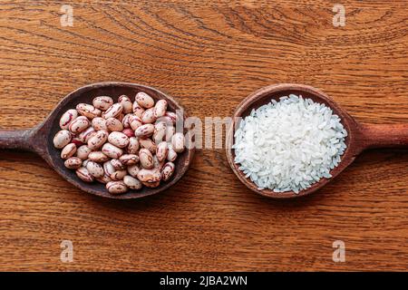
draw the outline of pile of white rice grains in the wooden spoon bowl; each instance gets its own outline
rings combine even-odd
[[[259,189],[298,193],[332,177],[346,136],[340,118],[325,104],[291,94],[241,120],[235,162]]]

